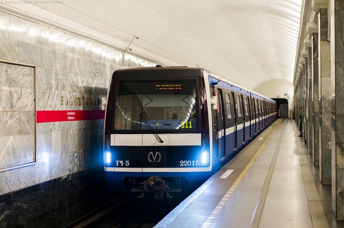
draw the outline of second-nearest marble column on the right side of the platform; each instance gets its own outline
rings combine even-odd
[[[319,180],[331,184],[331,58],[327,41],[327,9],[320,9],[319,26]]]

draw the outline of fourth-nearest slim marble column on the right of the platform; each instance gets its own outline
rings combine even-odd
[[[313,157],[313,100],[312,100],[312,46],[308,48],[308,155],[310,158]]]

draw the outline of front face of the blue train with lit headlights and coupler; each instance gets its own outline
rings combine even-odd
[[[211,175],[203,69],[117,70],[106,105],[107,179],[132,196],[173,197]]]

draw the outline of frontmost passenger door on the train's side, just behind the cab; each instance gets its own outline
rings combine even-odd
[[[222,89],[217,89],[217,150],[220,158],[225,157],[225,138],[226,138],[226,128],[224,122],[224,107],[223,107],[223,96],[222,96]]]

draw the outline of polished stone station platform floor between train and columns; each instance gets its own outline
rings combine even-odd
[[[298,135],[277,119],[155,227],[344,227]]]

